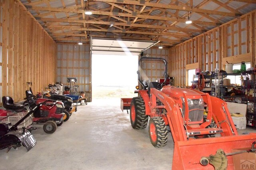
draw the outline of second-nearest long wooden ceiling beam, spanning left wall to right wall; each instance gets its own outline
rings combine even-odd
[[[60,9],[60,8],[49,8],[49,7],[33,7],[30,8],[27,6],[28,9],[32,10],[41,10],[41,11],[55,11],[55,12],[69,12],[69,13],[84,13],[84,10],[72,10],[72,9]],[[145,18],[145,19],[152,19],[152,20],[164,20],[164,21],[179,21],[179,22],[186,22],[186,19],[180,19],[180,18],[169,18],[169,17],[162,17],[162,16],[147,16],[147,15],[133,15],[133,14],[125,14],[125,13],[115,13],[115,12],[102,12],[102,11],[92,11],[93,14],[96,15],[106,15],[106,16],[113,16],[114,17],[130,17],[130,18]],[[124,21],[123,19],[120,19]],[[206,22],[206,21],[192,21],[196,24],[202,24],[202,25],[220,25],[220,23],[214,23],[214,22]]]

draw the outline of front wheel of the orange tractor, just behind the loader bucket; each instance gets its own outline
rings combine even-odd
[[[168,131],[162,117],[150,117],[148,133],[154,147],[160,148],[167,144]]]

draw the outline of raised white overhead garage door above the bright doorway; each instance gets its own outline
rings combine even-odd
[[[92,54],[102,55],[140,55],[159,41],[143,41],[128,39],[108,39],[92,37]]]

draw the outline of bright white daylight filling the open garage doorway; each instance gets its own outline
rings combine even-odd
[[[92,55],[92,98],[132,98],[138,85],[138,56]]]

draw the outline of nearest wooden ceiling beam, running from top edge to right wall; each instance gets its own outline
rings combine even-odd
[[[150,6],[150,7],[158,7],[158,8],[165,8],[165,9],[171,9],[171,10],[180,10],[180,11],[192,11],[192,12],[199,12],[199,13],[206,13],[206,14],[215,14],[215,15],[222,15],[222,16],[241,16],[238,13],[231,13],[231,12],[221,12],[221,11],[214,11],[214,10],[204,10],[199,8],[184,8],[183,6],[177,6],[177,5],[167,5],[167,4],[157,4],[152,2],[145,2],[144,4],[141,4],[140,1],[135,0],[123,0],[122,2],[120,0],[90,0],[95,2],[114,2],[116,4],[129,4],[129,5],[138,5],[138,6]]]

